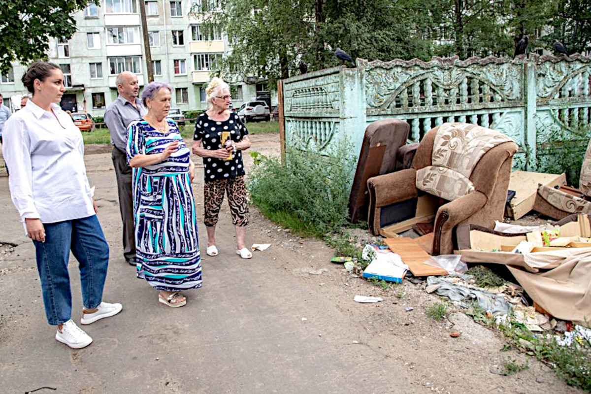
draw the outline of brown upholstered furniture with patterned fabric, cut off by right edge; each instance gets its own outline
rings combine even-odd
[[[559,190],[540,184],[532,209],[556,220],[574,213],[591,214],[591,141],[583,158],[579,190],[570,187]]]

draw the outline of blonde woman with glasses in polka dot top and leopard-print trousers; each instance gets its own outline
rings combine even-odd
[[[232,223],[236,229],[236,253],[243,259],[252,257],[244,243],[248,224],[248,206],[244,184],[242,151],[250,148],[246,126],[230,111],[230,87],[213,78],[206,89],[207,110],[195,124],[193,153],[203,158],[203,187],[207,255],[217,256],[216,224],[224,194],[228,195]],[[227,136],[226,136],[227,135]],[[224,141],[222,141],[222,137]]]

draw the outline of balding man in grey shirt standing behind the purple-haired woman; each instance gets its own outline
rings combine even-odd
[[[117,177],[119,210],[123,221],[123,255],[125,260],[135,266],[134,203],[131,190],[131,167],[127,164],[127,126],[141,118],[148,111],[140,99],[138,77],[124,71],[117,76],[119,96],[105,111],[105,123],[111,133],[113,151],[111,158]]]

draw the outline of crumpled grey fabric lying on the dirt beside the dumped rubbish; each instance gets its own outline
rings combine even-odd
[[[512,310],[512,305],[501,294],[452,284],[437,276],[428,276],[427,288],[437,295],[451,299],[455,305],[462,308],[470,308],[472,302],[476,301],[480,308],[491,311],[493,315],[508,315]]]

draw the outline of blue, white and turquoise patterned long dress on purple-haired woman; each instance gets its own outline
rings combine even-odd
[[[128,129],[127,159],[160,154],[173,141],[178,149],[158,164],[133,169],[137,276],[163,291],[201,287],[197,219],[189,179],[191,152],[174,121],[167,133],[144,121]]]

